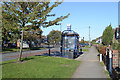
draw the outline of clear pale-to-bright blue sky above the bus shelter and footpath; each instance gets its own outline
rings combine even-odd
[[[113,28],[118,27],[118,3],[117,2],[63,2],[54,8],[51,13],[56,17],[70,13],[70,16],[62,21],[62,31],[71,24],[72,30],[79,33],[80,37],[89,40],[89,29],[91,27],[91,40],[102,35],[104,29],[111,23]],[[49,18],[55,19],[56,17]],[[43,35],[60,30],[60,26],[42,28]]]

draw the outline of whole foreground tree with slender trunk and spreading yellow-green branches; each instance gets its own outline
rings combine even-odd
[[[22,56],[24,31],[31,29],[36,30],[41,26],[46,28],[55,25],[70,15],[68,14],[58,17],[55,20],[51,19],[52,21],[48,21],[48,17],[55,16],[55,14],[49,14],[51,10],[61,3],[62,2],[54,2],[54,4],[50,5],[50,2],[4,2],[2,4],[3,19],[8,21],[8,23],[12,23],[12,26],[10,26],[11,28],[13,28],[13,26],[15,28],[18,27],[21,32],[22,44],[20,46],[19,61],[21,61]],[[26,26],[26,24],[29,23],[32,25],[29,27]]]

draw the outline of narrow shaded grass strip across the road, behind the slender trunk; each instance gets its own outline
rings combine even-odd
[[[43,47],[33,47],[33,48],[25,48],[23,51],[29,51],[29,50],[40,50],[40,49],[45,49]],[[2,50],[2,53],[7,53],[7,52],[19,52],[20,49],[18,48],[5,48]]]

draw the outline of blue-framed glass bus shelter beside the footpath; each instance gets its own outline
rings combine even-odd
[[[61,34],[61,54],[75,58],[79,55],[79,34],[73,30],[64,30]]]

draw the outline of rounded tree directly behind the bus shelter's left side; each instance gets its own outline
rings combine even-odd
[[[50,44],[53,44],[54,42],[55,43],[59,43],[61,41],[61,31],[58,31],[58,30],[52,30],[49,34],[49,43]]]

